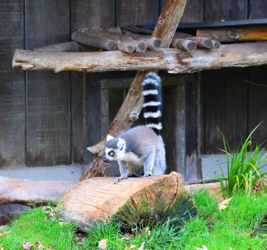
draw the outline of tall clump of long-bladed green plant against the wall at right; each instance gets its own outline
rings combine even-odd
[[[221,176],[213,179],[221,182],[224,197],[232,196],[237,190],[251,193],[252,187],[258,180],[266,183],[267,172],[261,173],[261,170],[267,165],[263,164],[263,161],[267,160],[267,152],[263,153],[262,144],[256,146],[252,144],[252,138],[259,126],[260,124],[249,133],[245,142],[241,139],[233,152],[230,150],[226,137],[220,132],[224,146],[221,151],[226,153],[227,176],[222,171]],[[263,189],[266,191],[266,185],[263,185]]]

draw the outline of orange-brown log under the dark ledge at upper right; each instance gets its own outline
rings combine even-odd
[[[203,28],[197,29],[197,36],[221,42],[267,41],[267,25]]]

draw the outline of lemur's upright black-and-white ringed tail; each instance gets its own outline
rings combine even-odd
[[[159,135],[162,130],[162,81],[156,73],[150,72],[145,75],[142,86],[146,126]]]

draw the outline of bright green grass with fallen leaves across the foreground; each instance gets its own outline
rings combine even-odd
[[[193,194],[199,215],[184,225],[173,225],[171,221],[156,225],[136,225],[125,232],[118,223],[97,223],[86,237],[83,245],[77,244],[76,226],[60,226],[59,218],[52,220],[40,208],[22,213],[5,229],[10,234],[0,237],[0,246],[4,249],[22,249],[22,244],[41,242],[53,249],[98,249],[101,239],[107,240],[107,249],[136,249],[143,242],[144,249],[195,249],[207,246],[211,249],[266,249],[267,241],[251,234],[267,213],[266,195],[236,194],[228,208],[219,211],[218,204],[206,191]],[[1,247],[0,247],[1,249]],[[37,246],[34,246],[37,249]]]

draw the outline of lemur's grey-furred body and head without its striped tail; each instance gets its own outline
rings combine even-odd
[[[121,152],[117,147],[119,138],[126,143],[124,152]],[[110,145],[115,147],[110,147]],[[121,176],[115,179],[115,183],[128,178],[132,174],[135,176],[143,175],[143,177],[162,174],[167,168],[162,137],[157,136],[147,126],[136,126],[108,141],[107,154],[110,151],[115,152],[115,157],[113,157],[115,159],[112,159],[112,157],[109,157],[109,159],[118,161],[121,173]],[[118,159],[117,155],[120,153],[123,153],[123,155]],[[128,155],[131,157],[127,157]]]

